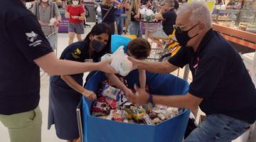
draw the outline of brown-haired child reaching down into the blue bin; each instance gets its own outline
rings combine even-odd
[[[138,60],[146,59],[151,51],[151,46],[147,40],[144,38],[135,38],[131,40],[127,45],[127,55]],[[124,94],[129,97],[132,95],[132,90],[127,88],[114,74],[106,74],[107,78],[114,84],[117,88],[121,89]],[[145,89],[146,87],[146,71],[139,70],[139,84],[140,87]]]

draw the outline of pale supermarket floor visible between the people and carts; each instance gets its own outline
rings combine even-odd
[[[91,27],[94,25],[90,23]],[[85,35],[90,31],[90,28],[85,28],[85,34],[82,35],[82,38],[85,38]],[[68,34],[67,33],[60,33],[58,34],[58,57],[68,45]],[[175,75],[183,75],[183,70],[179,73],[174,72]],[[191,82],[191,75],[188,77],[188,82]],[[51,127],[50,130],[47,129],[47,121],[48,121],[48,87],[49,87],[49,77],[47,74],[41,77],[41,101],[40,107],[43,114],[43,124],[42,124],[42,142],[64,142],[60,140],[56,134],[54,126]],[[201,114],[201,113],[199,113]],[[0,142],[9,142],[9,133],[7,129],[4,127],[3,124],[0,123]],[[240,142],[240,138],[233,142]]]

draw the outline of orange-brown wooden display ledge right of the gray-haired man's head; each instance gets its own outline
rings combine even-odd
[[[213,23],[213,30],[218,31],[226,40],[256,50],[255,33],[249,33],[247,31],[241,31],[235,28],[220,26],[216,23]]]

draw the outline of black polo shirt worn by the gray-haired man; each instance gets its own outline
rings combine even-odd
[[[178,67],[189,64],[193,81],[188,92],[203,99],[203,112],[255,121],[255,85],[238,52],[217,32],[210,29],[196,52],[183,47],[169,62]]]

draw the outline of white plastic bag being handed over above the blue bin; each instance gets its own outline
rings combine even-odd
[[[132,71],[132,62],[128,60],[128,56],[124,54],[124,46],[120,46],[112,55],[111,67],[114,68],[119,75],[126,76]]]

